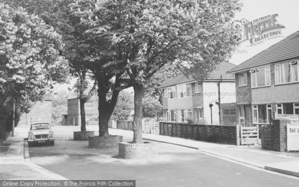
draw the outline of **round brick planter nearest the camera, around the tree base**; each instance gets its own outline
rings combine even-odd
[[[119,143],[119,157],[122,159],[150,159],[158,155],[158,143]]]

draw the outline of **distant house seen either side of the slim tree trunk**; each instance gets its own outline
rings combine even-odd
[[[93,94],[85,103],[85,120],[98,121],[98,96]],[[77,95],[67,98],[67,115],[63,115],[62,125],[81,125],[80,100]]]

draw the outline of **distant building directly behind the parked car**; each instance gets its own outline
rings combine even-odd
[[[52,122],[52,97],[44,96],[41,101],[37,101],[29,113],[24,113],[20,117],[18,125],[29,126],[34,121]]]

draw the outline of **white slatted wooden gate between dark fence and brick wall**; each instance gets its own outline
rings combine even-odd
[[[258,144],[259,127],[242,127],[240,129],[241,145]]]

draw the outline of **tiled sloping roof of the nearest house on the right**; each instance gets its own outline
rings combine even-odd
[[[228,73],[237,73],[253,67],[267,65],[274,62],[299,57],[299,31],[258,53],[240,65],[232,68]]]

